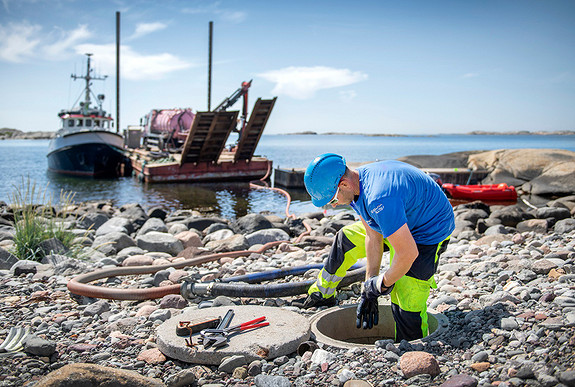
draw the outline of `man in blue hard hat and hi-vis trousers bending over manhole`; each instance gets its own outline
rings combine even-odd
[[[455,228],[453,209],[439,185],[399,161],[351,170],[334,153],[316,157],[304,182],[317,207],[350,205],[361,218],[337,233],[306,306],[334,303],[345,271],[366,257],[357,327],[377,325],[377,299],[390,294],[396,341],[427,336],[427,299],[430,288],[437,287],[433,274]],[[384,247],[390,249],[391,262],[380,274]]]

